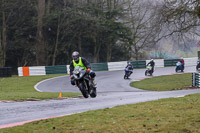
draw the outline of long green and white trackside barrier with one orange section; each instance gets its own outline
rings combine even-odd
[[[184,58],[185,66],[195,66],[198,57]],[[179,59],[155,59],[155,67],[175,66]],[[146,68],[150,60],[131,61],[134,69]],[[93,71],[114,71],[123,70],[127,61],[108,62],[108,63],[91,63]],[[69,74],[69,65],[58,66],[35,66],[35,67],[18,67],[19,76],[46,75],[46,74]]]

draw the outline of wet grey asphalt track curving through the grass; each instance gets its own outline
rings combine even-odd
[[[57,117],[73,113],[134,104],[169,97],[182,97],[200,93],[200,89],[154,92],[129,86],[131,81],[144,79],[145,69],[136,69],[129,80],[124,80],[123,71],[97,72],[97,97],[28,102],[0,102],[0,128],[20,125],[42,118]],[[185,72],[194,72],[195,66],[186,67]],[[154,76],[175,73],[174,67],[156,68]],[[41,92],[79,92],[71,86],[69,76],[53,78],[35,86]]]

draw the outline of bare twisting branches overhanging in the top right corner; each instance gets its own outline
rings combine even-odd
[[[170,37],[178,44],[198,36],[199,0],[164,0],[160,7],[162,38]]]

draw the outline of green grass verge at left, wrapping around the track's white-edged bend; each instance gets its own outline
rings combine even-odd
[[[53,99],[58,98],[59,92],[38,92],[34,85],[39,81],[63,75],[45,75],[9,78],[0,78],[0,100],[30,100],[30,99]],[[67,82],[68,79],[66,79]],[[59,89],[59,88],[58,88]],[[78,93],[62,93],[62,97],[78,96]]]

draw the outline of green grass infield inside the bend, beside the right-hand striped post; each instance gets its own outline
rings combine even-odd
[[[147,78],[142,81],[132,82],[131,86],[151,91],[188,89],[192,86],[192,74],[186,73]]]

